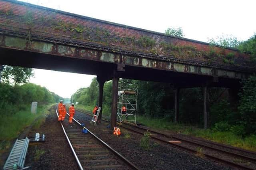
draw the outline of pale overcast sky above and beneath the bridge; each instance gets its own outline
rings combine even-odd
[[[256,32],[255,0],[22,0],[101,20],[164,32],[182,27],[185,38],[207,42],[208,38],[233,35],[247,40]],[[88,87],[94,76],[34,69],[32,83],[62,97]],[[74,83],[59,85],[59,77],[72,76]]]

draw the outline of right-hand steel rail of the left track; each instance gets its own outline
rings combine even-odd
[[[66,114],[68,116],[69,113],[66,112]],[[129,164],[132,168],[138,170],[139,168],[137,166],[135,166],[132,162],[130,162],[128,159],[124,158],[124,156],[122,156],[120,153],[118,153],[116,150],[114,150],[112,147],[110,147],[108,144],[106,144],[106,142],[104,142],[103,140],[101,140],[98,136],[96,136],[94,133],[92,133],[88,128],[82,126],[82,124],[80,122],[78,122],[76,119],[73,118],[73,120],[78,123],[78,125],[80,125],[81,127],[85,128],[90,134],[92,134],[92,136],[94,136],[96,139],[98,139],[104,146],[106,146],[108,149],[110,149],[112,152],[114,152],[114,154],[116,154],[117,156],[119,156],[120,158],[122,158],[122,160],[124,160],[127,164]]]

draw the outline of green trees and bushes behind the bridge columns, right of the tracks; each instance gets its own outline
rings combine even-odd
[[[138,81],[137,122],[148,127],[173,130],[178,133],[203,137],[216,142],[230,144],[245,149],[256,150],[255,134],[255,97],[256,80],[250,77],[242,82],[240,102],[231,103],[222,94],[227,89],[210,88],[210,129],[203,127],[203,91],[202,88],[180,90],[180,123],[174,120],[174,91],[169,83]],[[112,103],[112,81],[104,85],[103,114],[110,115]],[[88,88],[79,89],[74,102],[92,111],[98,103],[98,83],[96,78]],[[222,97],[220,97],[222,96]],[[248,103],[249,102],[249,103]],[[236,109],[239,106],[239,109]],[[249,119],[250,117],[250,119]],[[248,129],[248,130],[247,130]],[[254,130],[254,131],[253,131]]]

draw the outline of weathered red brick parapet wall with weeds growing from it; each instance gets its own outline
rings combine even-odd
[[[70,29],[69,29],[70,27]],[[82,27],[83,32],[75,29]],[[135,54],[147,54],[155,57],[169,57],[180,60],[198,61],[206,64],[228,65],[230,67],[249,67],[249,56],[235,49],[214,47],[214,51],[222,56],[206,57],[211,47],[208,43],[174,38],[161,33],[115,24],[67,12],[52,10],[18,2],[0,0],[0,29],[23,33],[24,38],[37,36],[86,43],[106,47],[113,51],[130,51]],[[31,31],[31,32],[30,32]],[[138,45],[146,37],[154,42],[152,47]],[[162,43],[182,47],[181,51],[166,50]],[[186,49],[194,47],[194,49]],[[224,63],[223,58],[234,53],[234,63]]]

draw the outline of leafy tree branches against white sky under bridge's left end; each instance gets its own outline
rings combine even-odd
[[[27,83],[28,79],[33,75],[31,68],[3,65],[2,75],[0,74],[0,78],[4,83],[13,83],[18,85],[21,83]]]

